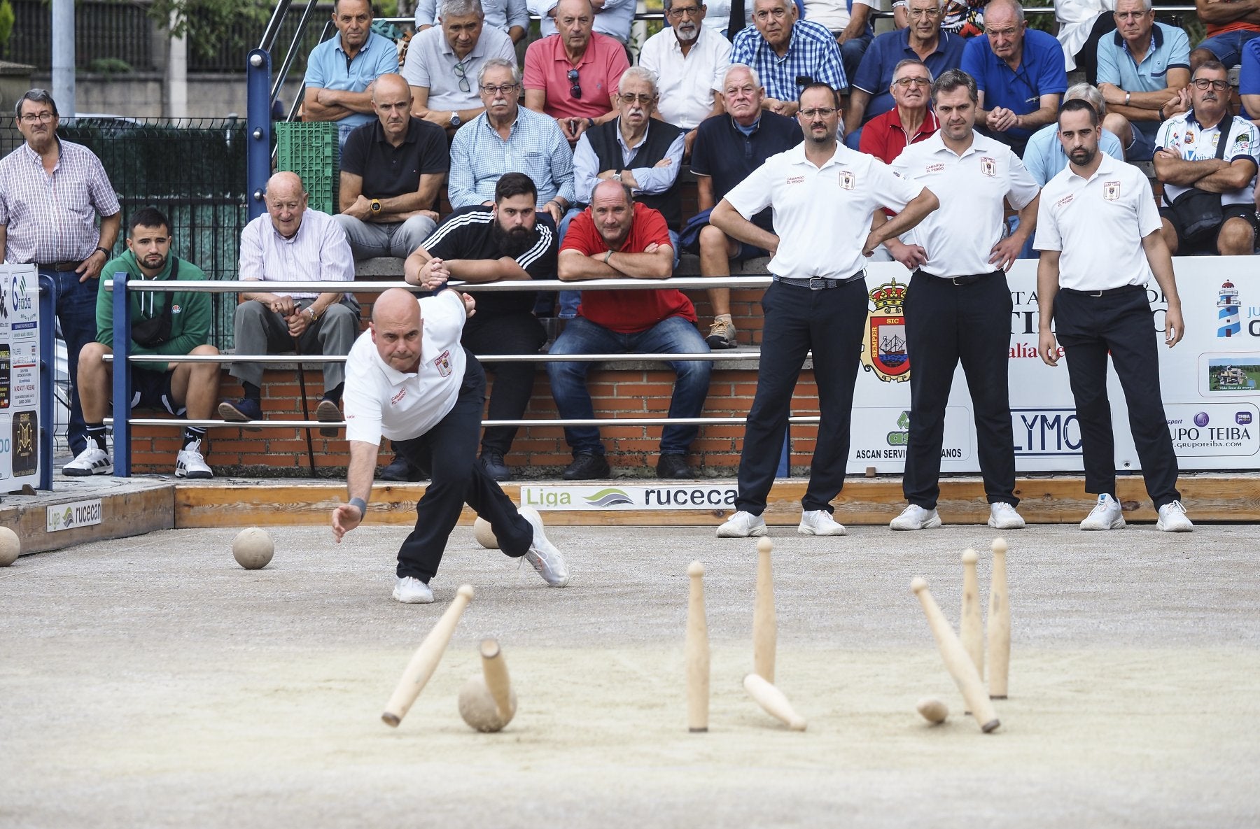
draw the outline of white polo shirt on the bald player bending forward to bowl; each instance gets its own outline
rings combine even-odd
[[[381,443],[381,436],[420,437],[446,417],[460,396],[465,355],[460,345],[467,314],[455,291],[420,301],[420,370],[399,372],[381,359],[372,331],[359,335],[345,360],[345,437]]]

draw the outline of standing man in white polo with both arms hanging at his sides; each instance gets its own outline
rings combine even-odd
[[[1058,140],[1068,164],[1042,190],[1033,239],[1041,251],[1038,350],[1048,365],[1058,364],[1061,350],[1067,357],[1081,426],[1085,491],[1099,496],[1081,529],[1124,527],[1115,498],[1115,442],[1106,393],[1110,354],[1124,388],[1147,494],[1159,513],[1155,527],[1188,533],[1194,525],[1177,491],[1177,455],[1159,394],[1155,320],[1147,300],[1153,273],[1168,300],[1164,344],[1177,345],[1186,324],[1173,261],[1147,176],[1099,152],[1097,139],[1094,107],[1081,100],[1065,103]]]

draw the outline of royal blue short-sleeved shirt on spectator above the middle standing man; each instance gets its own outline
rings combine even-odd
[[[968,40],[961,68],[975,78],[976,88],[984,93],[985,110],[1004,107],[1016,115],[1028,115],[1041,108],[1041,96],[1067,92],[1063,47],[1055,37],[1037,29],[1024,31],[1019,69],[1012,72],[1005,60],[993,54],[985,35]],[[1024,141],[1032,131],[1012,127],[1007,135]]]

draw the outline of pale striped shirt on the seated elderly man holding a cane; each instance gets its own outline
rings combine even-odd
[[[241,268],[243,281],[267,282],[353,282],[354,256],[350,243],[331,215],[306,208],[297,233],[286,239],[263,213],[241,231]],[[314,299],[319,292],[278,294],[295,300]]]

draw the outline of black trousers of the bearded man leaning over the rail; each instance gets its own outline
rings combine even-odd
[[[464,348],[483,357],[490,354],[537,354],[547,341],[547,331],[527,311],[518,314],[474,314],[464,326]],[[534,393],[537,363],[494,363],[494,393],[486,420],[519,421]],[[481,451],[507,455],[517,438],[515,426],[489,426],[481,435]]]

